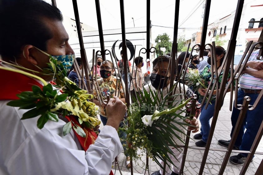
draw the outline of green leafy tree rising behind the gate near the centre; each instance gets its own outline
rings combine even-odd
[[[161,40],[161,42],[159,42],[159,40]],[[158,55],[160,54],[159,46],[160,47],[165,47],[165,49],[166,49],[165,53],[170,53],[171,52],[172,42],[170,41],[169,35],[167,35],[167,33],[163,33],[162,35],[158,35],[155,38],[155,43],[157,43],[155,48],[158,50]],[[162,51],[161,51],[161,55],[163,55]]]

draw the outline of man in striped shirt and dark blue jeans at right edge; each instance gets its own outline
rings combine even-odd
[[[259,50],[251,54],[249,61],[246,64],[246,68],[242,72],[243,74],[241,75],[239,81],[240,89],[237,92],[236,104],[242,104],[244,97],[249,96],[251,98],[249,104],[253,105],[263,88],[263,61],[256,59],[258,54]],[[262,108],[263,98],[261,98],[255,109],[247,110],[241,129],[238,133],[234,149],[243,151],[249,151],[251,149],[256,134],[262,123]],[[232,130],[230,137],[233,135],[239,113],[240,110],[233,107],[231,115]],[[218,140],[218,143],[222,146],[228,147],[230,140]],[[231,156],[229,160],[236,165],[242,165],[246,161],[247,155],[247,153],[239,153],[238,155]]]

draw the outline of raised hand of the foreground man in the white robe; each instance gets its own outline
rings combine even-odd
[[[107,123],[116,130],[119,128],[120,122],[123,120],[126,113],[126,105],[116,96],[111,98],[106,106]]]

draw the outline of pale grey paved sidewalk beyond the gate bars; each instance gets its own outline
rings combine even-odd
[[[219,112],[219,116],[218,116],[218,120],[216,123],[216,128],[215,128],[215,132],[212,138],[210,149],[211,148],[221,148],[221,149],[223,148],[226,150],[226,147],[219,145],[217,141],[220,139],[224,139],[224,140],[230,139],[230,132],[231,132],[232,126],[231,126],[231,111],[229,110],[229,106],[230,106],[230,93],[227,93],[225,100],[224,100],[224,105],[221,108],[221,111]],[[211,121],[212,119],[210,120],[210,122]],[[101,128],[102,127],[103,126],[101,126]],[[189,146],[193,146],[193,147],[188,149],[185,167],[184,167],[184,175],[198,174],[199,168],[202,162],[202,158],[203,158],[204,150],[198,149],[200,147],[195,147],[195,142],[198,140],[194,140],[193,135],[194,134],[191,133],[191,139],[189,142]],[[238,153],[234,153],[234,151],[231,153],[231,156],[238,154]],[[263,152],[263,139],[261,139],[261,142],[256,151]],[[203,171],[203,175],[218,174],[221,168],[221,164],[224,160],[224,156],[225,156],[225,152],[223,151],[209,151],[208,157],[206,160],[206,165]],[[249,168],[247,169],[246,175],[254,175],[262,159],[263,159],[263,155],[255,154],[253,162],[250,163]],[[115,166],[115,163],[112,164],[113,173],[115,173],[116,175],[119,175],[121,173],[123,175],[131,174],[130,169],[126,168],[126,157],[124,156],[123,153],[118,155],[118,164],[119,164],[119,168]],[[145,169],[146,169],[146,156],[142,156],[141,161],[139,162],[133,162],[133,174],[134,175],[138,175],[138,174],[146,174],[146,175],[149,174],[150,175],[151,173],[159,170],[159,167],[154,161],[149,159],[149,171],[146,171]],[[228,162],[225,168],[225,171],[224,171],[224,175],[239,174],[241,169],[242,169],[241,165],[235,165],[231,162]]]

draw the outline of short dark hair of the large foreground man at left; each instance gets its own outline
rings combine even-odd
[[[53,36],[43,19],[63,20],[58,8],[42,0],[2,0],[0,16],[0,55],[9,59],[27,44],[46,51]]]

